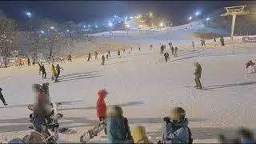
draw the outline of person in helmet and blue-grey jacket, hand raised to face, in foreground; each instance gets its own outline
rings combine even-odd
[[[190,130],[186,111],[182,107],[174,107],[170,111],[171,117],[163,118],[162,141],[163,143],[190,143]]]

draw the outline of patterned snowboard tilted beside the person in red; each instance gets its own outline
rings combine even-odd
[[[89,142],[90,139],[94,138],[94,136],[97,136],[98,133],[101,132],[102,130],[104,130],[105,128],[106,128],[105,121],[98,122],[98,124],[96,126],[89,129],[85,134],[82,134],[82,136],[80,137],[80,142],[82,142],[82,143]]]

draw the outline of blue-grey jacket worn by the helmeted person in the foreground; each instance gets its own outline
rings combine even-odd
[[[185,118],[181,122],[169,122],[164,121],[162,123],[162,140],[166,143],[188,143],[189,131],[188,131],[188,119]]]

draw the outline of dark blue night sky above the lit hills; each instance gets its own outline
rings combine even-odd
[[[197,10],[208,14],[225,6],[256,5],[244,1],[2,1],[0,10],[7,17],[22,22],[26,11],[33,17],[49,18],[57,22],[90,22],[109,18],[114,14],[134,14],[152,11],[170,19],[182,22]],[[193,14],[192,14],[193,13]]]

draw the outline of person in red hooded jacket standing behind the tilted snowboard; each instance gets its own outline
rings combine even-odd
[[[104,90],[98,90],[98,101],[96,105],[97,109],[97,117],[99,118],[99,121],[102,121],[106,118],[106,102],[104,101],[104,98],[106,98],[106,94],[108,92]]]

